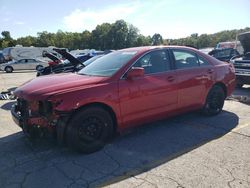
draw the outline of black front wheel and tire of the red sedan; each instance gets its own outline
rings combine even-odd
[[[70,120],[66,129],[66,142],[77,151],[92,153],[103,148],[113,131],[114,123],[106,110],[88,107]]]

